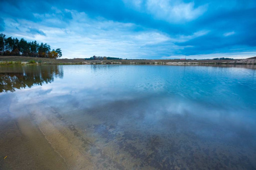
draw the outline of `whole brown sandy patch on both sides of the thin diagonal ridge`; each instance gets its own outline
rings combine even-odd
[[[63,125],[50,108],[41,109],[10,105],[2,110],[0,150],[7,158],[0,169],[93,169],[81,152],[85,146],[76,136],[79,131]]]

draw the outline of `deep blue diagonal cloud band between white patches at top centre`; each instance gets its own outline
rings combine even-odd
[[[61,3],[62,8],[69,8],[80,12],[85,12],[92,18],[102,16],[109,20],[125,23],[135,23],[146,28],[158,29],[159,31],[176,34],[192,32],[184,29],[179,24],[170,24],[164,20],[155,20],[151,14],[147,12],[137,11],[127,7],[123,1],[78,1],[69,3],[69,1]]]

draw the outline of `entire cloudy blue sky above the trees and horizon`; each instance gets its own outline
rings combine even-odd
[[[0,33],[63,58],[248,58],[255,30],[255,0],[0,0]]]

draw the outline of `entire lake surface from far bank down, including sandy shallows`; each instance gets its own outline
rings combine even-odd
[[[0,76],[0,169],[256,169],[255,66],[1,66]]]

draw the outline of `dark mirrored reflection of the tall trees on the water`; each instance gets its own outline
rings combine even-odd
[[[51,83],[54,77],[63,78],[63,66],[13,66],[0,68],[0,92]]]

